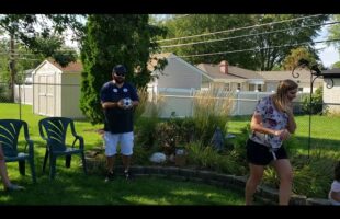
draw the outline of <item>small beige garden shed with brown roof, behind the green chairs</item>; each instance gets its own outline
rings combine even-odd
[[[81,62],[61,67],[43,61],[33,76],[33,112],[45,116],[83,118],[80,107]]]

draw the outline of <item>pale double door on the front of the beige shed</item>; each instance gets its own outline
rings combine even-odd
[[[39,76],[38,85],[38,113],[41,115],[54,116],[55,114],[55,77]]]

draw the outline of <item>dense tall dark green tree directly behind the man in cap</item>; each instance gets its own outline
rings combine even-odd
[[[124,64],[128,69],[126,80],[137,88],[145,87],[151,80],[149,57],[158,51],[155,38],[165,33],[148,23],[147,14],[89,15],[81,42],[84,70],[80,108],[92,124],[103,122],[99,92],[104,82],[112,80],[113,66]],[[163,67],[161,64],[156,68]]]

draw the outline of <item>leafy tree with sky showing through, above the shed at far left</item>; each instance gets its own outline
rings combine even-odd
[[[0,32],[10,37],[9,49],[3,49],[1,53],[8,53],[10,56],[9,62],[4,66],[10,71],[11,100],[14,99],[13,84],[18,78],[18,49],[15,44],[24,46],[37,56],[53,57],[64,67],[77,59],[76,51],[61,53],[59,50],[64,45],[63,34],[66,30],[72,28],[76,36],[81,36],[82,24],[78,22],[76,16],[75,14],[0,14]]]

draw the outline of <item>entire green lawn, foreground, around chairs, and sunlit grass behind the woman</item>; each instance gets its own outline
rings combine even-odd
[[[19,105],[0,104],[0,118],[19,118]],[[127,183],[123,178],[104,184],[103,176],[84,176],[79,166],[78,157],[72,159],[71,169],[64,168],[58,159],[55,181],[48,174],[42,174],[45,142],[38,135],[38,120],[43,116],[34,115],[32,106],[21,108],[22,119],[27,122],[31,139],[34,140],[37,184],[32,184],[31,173],[20,176],[16,163],[8,163],[10,178],[27,189],[19,193],[5,193],[0,189],[0,205],[242,205],[243,194],[234,193],[215,186],[190,182],[177,182],[156,177],[140,177]],[[240,134],[250,122],[250,116],[231,117],[229,132]],[[301,153],[307,152],[308,115],[296,116],[297,130],[292,143]],[[339,153],[340,117],[313,116],[311,147],[324,148],[330,153]],[[88,122],[76,122],[76,129],[84,137],[86,150],[102,146],[97,134],[101,125],[92,126]],[[22,137],[21,137],[22,138]],[[67,139],[70,142],[72,139]]]

